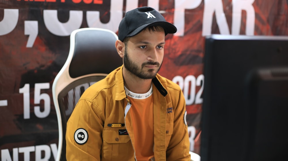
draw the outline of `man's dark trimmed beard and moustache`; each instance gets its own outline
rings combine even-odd
[[[156,62],[147,61],[147,62],[142,63],[141,68],[140,68],[134,62],[132,62],[132,60],[129,58],[126,48],[124,51],[123,61],[124,61],[123,62],[124,67],[130,73],[136,75],[137,77],[139,77],[141,79],[153,79],[153,78],[155,78],[156,74],[158,73],[158,71],[160,70],[160,67],[162,65],[162,63],[160,64],[158,61],[156,61]],[[148,69],[148,71],[143,71],[143,67],[145,65],[157,65],[158,70],[156,71],[156,69]]]

